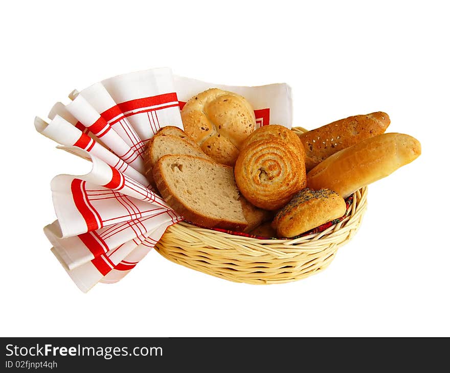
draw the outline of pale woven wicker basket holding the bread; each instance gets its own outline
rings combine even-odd
[[[181,222],[167,229],[155,249],[174,263],[233,282],[286,283],[328,267],[336,251],[357,231],[366,207],[367,187],[353,194],[344,220],[296,239],[261,240]]]

